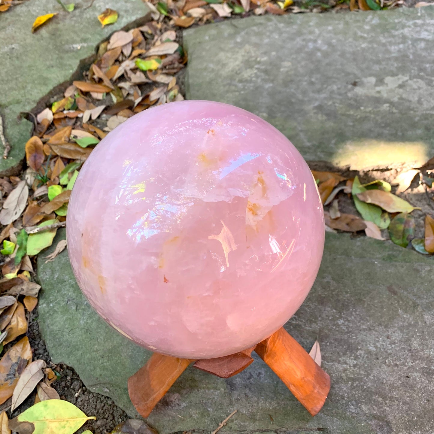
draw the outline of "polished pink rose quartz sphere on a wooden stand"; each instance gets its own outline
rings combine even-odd
[[[79,173],[66,233],[96,311],[139,345],[192,359],[279,329],[324,247],[316,182],[296,148],[210,101],[160,105],[110,132]]]

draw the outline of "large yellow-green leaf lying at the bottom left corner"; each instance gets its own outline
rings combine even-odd
[[[48,399],[40,401],[23,411],[9,422],[9,429],[20,431],[30,422],[34,426],[32,434],[70,434],[79,429],[85,421],[96,419],[86,416],[79,408],[68,401]]]

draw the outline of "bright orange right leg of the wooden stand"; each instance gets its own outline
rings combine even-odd
[[[321,410],[330,377],[283,327],[256,345],[255,352],[312,416]]]

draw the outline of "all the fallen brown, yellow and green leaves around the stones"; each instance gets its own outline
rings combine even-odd
[[[73,3],[58,2],[66,11],[74,10]],[[17,0],[0,0],[0,11],[19,3]],[[334,6],[352,10],[358,6],[366,10],[365,4],[368,9],[378,9],[380,5],[390,7],[402,3],[382,0],[358,0],[355,3],[352,0],[337,1]],[[47,366],[41,359],[32,361],[33,353],[26,333],[40,289],[33,281],[34,259],[53,243],[58,228],[65,226],[72,187],[93,147],[136,113],[184,99],[178,79],[187,55],[179,44],[177,27],[204,24],[249,10],[255,14],[299,12],[297,7],[291,6],[292,0],[240,0],[239,3],[181,0],[148,4],[152,21],[128,32],[113,33],[108,41],[100,44],[95,62],[82,79],[72,82],[49,107],[35,113],[34,135],[26,143],[28,168],[23,176],[0,178],[0,243],[3,243],[0,252],[1,434],[28,429],[29,422],[33,424],[33,431],[26,433],[72,434],[92,419],[75,405],[59,399],[57,391],[51,387],[59,377],[55,365]],[[311,2],[310,7],[321,4]],[[38,17],[32,31],[54,16],[56,13]],[[114,23],[117,18],[118,13],[111,9],[98,16],[102,26]],[[434,253],[434,218],[430,215],[434,197],[434,158],[423,167],[398,173],[388,181],[374,179],[362,183],[357,175],[342,176],[330,171],[312,173],[325,207],[326,230],[350,232],[354,236],[365,234],[378,240],[390,239],[419,253]],[[368,174],[368,178],[372,175]],[[424,228],[419,228],[419,237],[415,235],[417,224],[412,213],[414,210],[421,213],[420,208],[400,197],[414,184],[418,184],[417,189],[429,201],[424,209]],[[65,248],[66,241],[59,241],[54,252],[45,257],[46,262]],[[318,342],[310,354],[320,365]],[[12,413],[19,408],[33,391],[36,391],[34,405],[8,421],[7,411]],[[135,425],[138,431],[131,432],[149,431],[142,422],[134,420],[126,422],[124,428],[130,430]],[[124,428],[116,427],[113,432],[123,432]],[[90,434],[90,431],[85,433]]]

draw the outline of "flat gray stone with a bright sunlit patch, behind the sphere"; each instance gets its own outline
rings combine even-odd
[[[308,161],[418,167],[434,154],[433,29],[434,7],[189,29],[187,98],[259,115]]]

